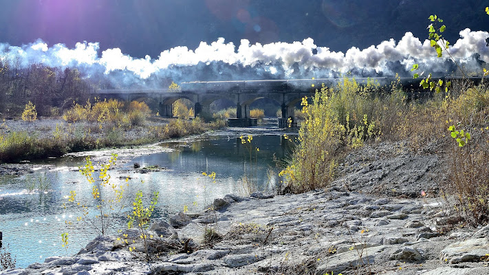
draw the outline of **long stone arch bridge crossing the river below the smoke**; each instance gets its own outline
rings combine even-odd
[[[247,80],[247,81],[208,81],[182,83],[181,91],[169,92],[167,89],[98,89],[92,95],[100,98],[117,98],[121,100],[142,100],[151,98],[159,102],[159,113],[164,117],[173,116],[173,102],[186,98],[195,104],[195,115],[209,109],[215,100],[225,98],[236,106],[236,120],[230,120],[230,124],[236,126],[253,126],[256,120],[250,118],[250,104],[261,98],[270,98],[280,104],[282,117],[279,118],[279,126],[284,127],[294,119],[294,105],[304,96],[312,98],[316,89],[321,85],[332,87],[343,78],[320,78],[298,80]],[[360,84],[377,83],[380,87],[390,85],[396,78],[356,78]],[[415,82],[416,80],[414,80]],[[402,78],[404,87],[419,87],[413,85],[412,78]],[[290,122],[287,123],[287,120]]]

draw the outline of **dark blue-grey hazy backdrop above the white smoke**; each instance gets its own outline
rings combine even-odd
[[[345,51],[399,40],[411,31],[426,36],[426,17],[437,12],[448,35],[489,25],[484,1],[409,0],[0,0],[0,43],[22,45],[42,39],[51,46],[99,42],[134,57],[224,37],[239,45],[291,43]],[[480,12],[479,12],[480,9]],[[472,14],[469,18],[466,14]],[[451,27],[451,28],[450,28]]]

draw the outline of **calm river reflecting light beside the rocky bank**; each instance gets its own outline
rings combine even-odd
[[[151,217],[155,220],[168,219],[185,206],[189,212],[198,212],[215,198],[243,194],[246,188],[239,182],[245,170],[259,189],[272,188],[277,181],[274,159],[284,159],[293,147],[292,139],[285,139],[284,133],[276,127],[230,128],[164,142],[157,153],[120,154],[118,165],[109,174],[111,184],[125,188],[124,207],[111,223],[111,232],[127,228],[127,214],[138,190],[142,190],[146,205],[153,192],[160,193]],[[240,137],[247,140],[248,135],[252,135],[251,144],[242,144]],[[94,157],[94,164],[97,160],[103,158]],[[50,165],[27,175],[0,176],[0,231],[3,245],[9,245],[17,267],[44,261],[47,256],[75,254],[97,234],[93,226],[76,221],[80,210],[67,199],[70,191],[75,191],[77,201],[86,204],[89,215],[94,216],[96,203],[91,199],[91,185],[78,171],[85,159],[69,155],[45,159],[40,164]],[[135,169],[135,164],[140,168]],[[202,174],[213,172],[215,179]],[[127,177],[131,178],[129,186]],[[40,183],[47,187],[39,190]],[[102,190],[102,194],[107,191]],[[69,234],[67,248],[62,247],[63,232]]]

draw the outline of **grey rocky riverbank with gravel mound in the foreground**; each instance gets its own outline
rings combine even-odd
[[[402,143],[365,146],[328,190],[227,195],[214,210],[155,221],[149,263],[129,230],[0,274],[489,274],[489,226],[448,226],[444,163]]]

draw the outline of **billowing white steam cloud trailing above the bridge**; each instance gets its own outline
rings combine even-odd
[[[481,72],[489,63],[488,32],[460,32],[460,39],[448,52],[459,65],[469,71]],[[250,45],[246,39],[236,47],[218,39],[200,43],[195,50],[174,47],[161,52],[157,59],[150,56],[133,58],[118,48],[102,51],[98,43],[77,43],[72,49],[63,44],[48,47],[39,40],[21,47],[0,44],[0,60],[29,66],[43,63],[53,67],[76,67],[85,77],[106,78],[113,87],[157,86],[162,79],[195,80],[257,80],[279,78],[334,78],[342,74],[361,77],[412,76],[414,63],[434,75],[456,73],[448,54],[437,58],[428,40],[420,41],[406,32],[398,42],[390,39],[360,50],[333,52],[314,44],[313,39],[294,43],[259,43]]]

